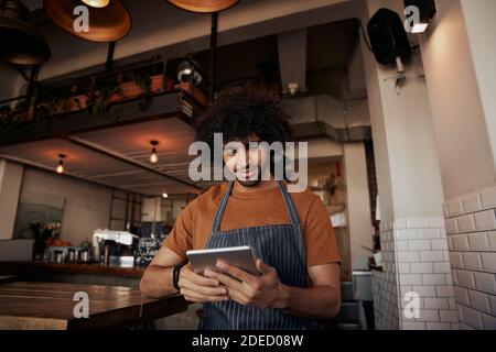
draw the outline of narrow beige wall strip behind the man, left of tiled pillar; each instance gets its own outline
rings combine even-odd
[[[344,144],[344,164],[352,268],[367,270],[371,253],[362,246],[371,249],[374,245],[364,143]]]

